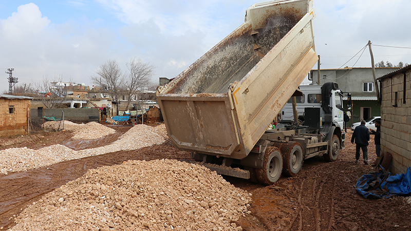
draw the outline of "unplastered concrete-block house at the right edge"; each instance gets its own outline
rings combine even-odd
[[[390,171],[411,166],[411,65],[378,79],[381,85],[381,151],[393,155]]]

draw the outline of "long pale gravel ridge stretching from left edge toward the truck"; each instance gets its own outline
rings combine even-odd
[[[88,129],[80,129],[79,132],[84,131],[87,134],[91,133],[86,130]],[[80,134],[80,136],[82,136],[82,134]],[[75,151],[60,144],[44,147],[39,150],[26,147],[9,148],[0,150],[0,174],[7,175],[7,173],[11,171],[26,171],[33,168],[45,167],[61,161],[97,156],[109,152],[136,150],[142,147],[163,143],[167,138],[164,124],[157,127],[139,124],[130,128],[126,133],[119,137],[117,141],[97,148]]]

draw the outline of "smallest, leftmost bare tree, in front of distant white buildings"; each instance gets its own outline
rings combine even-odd
[[[54,76],[52,80],[49,80],[47,75],[43,76],[42,83],[33,83],[39,95],[36,99],[39,99],[46,108],[65,107],[64,101],[67,99],[67,90],[64,86],[56,84],[61,82],[61,76],[59,78]]]

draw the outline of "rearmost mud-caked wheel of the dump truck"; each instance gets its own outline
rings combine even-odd
[[[260,184],[271,185],[281,176],[283,157],[276,147],[267,148],[264,153],[263,169],[255,169]]]

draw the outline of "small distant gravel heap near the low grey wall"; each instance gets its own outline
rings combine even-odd
[[[46,130],[62,130],[62,121],[48,121],[42,125]],[[113,128],[106,127],[96,122],[87,124],[76,124],[70,121],[64,121],[64,130],[73,132],[74,140],[94,140],[113,134],[116,132]]]

